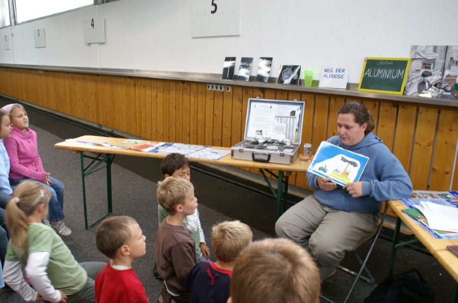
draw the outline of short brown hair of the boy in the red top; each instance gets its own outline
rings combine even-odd
[[[128,244],[132,237],[132,228],[137,225],[137,221],[129,216],[103,220],[97,228],[97,248],[108,258],[115,259],[119,249]]]

